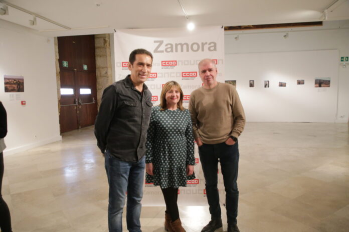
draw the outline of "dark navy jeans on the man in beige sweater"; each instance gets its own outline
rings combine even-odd
[[[205,176],[206,196],[210,205],[211,219],[221,218],[219,203],[218,161],[221,163],[224,187],[226,191],[226,208],[228,224],[236,224],[238,216],[238,167],[239,144],[227,145],[225,142],[217,144],[204,143],[199,147],[200,161]]]

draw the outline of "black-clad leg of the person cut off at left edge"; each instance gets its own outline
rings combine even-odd
[[[3,152],[0,153],[0,228],[3,232],[11,232],[11,216],[10,210],[7,206],[3,195],[1,194],[1,188],[3,184],[4,176],[4,155]]]

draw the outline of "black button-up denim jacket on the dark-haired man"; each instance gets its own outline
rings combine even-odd
[[[143,94],[130,75],[103,91],[95,122],[97,145],[123,161],[138,161],[145,155],[146,131],[151,112],[151,92],[143,84]]]

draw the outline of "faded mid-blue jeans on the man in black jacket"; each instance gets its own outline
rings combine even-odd
[[[122,212],[127,192],[127,229],[140,232],[145,156],[137,162],[121,161],[107,150],[105,170],[109,183],[108,226],[110,232],[122,232]]]

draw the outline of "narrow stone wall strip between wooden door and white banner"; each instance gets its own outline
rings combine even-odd
[[[95,34],[97,103],[101,103],[104,88],[113,83],[110,54],[110,35]]]

